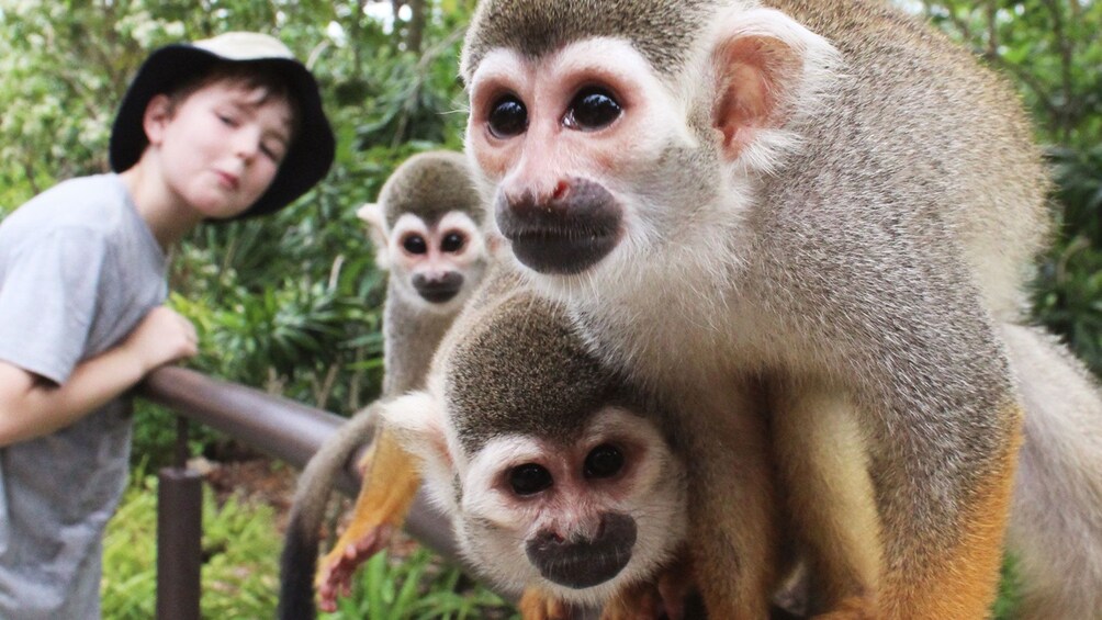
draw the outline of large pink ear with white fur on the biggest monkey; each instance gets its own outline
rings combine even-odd
[[[752,9],[726,18],[712,45],[712,121],[727,159],[757,149],[765,152],[752,159],[765,164],[780,154],[770,151],[790,146],[784,128],[813,107],[836,62],[827,40],[780,11]]]

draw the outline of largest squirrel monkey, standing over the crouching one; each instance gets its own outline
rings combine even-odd
[[[1049,230],[1004,81],[865,0],[484,0],[461,74],[514,262],[676,405],[709,614],[767,616],[784,537],[812,614],[984,618],[1022,437],[995,324]]]

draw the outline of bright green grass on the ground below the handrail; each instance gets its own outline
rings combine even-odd
[[[218,505],[204,485],[203,618],[257,620],[276,613],[283,539],[276,513],[234,497]],[[102,616],[148,620],[156,610],[156,478],[136,478],[104,541]],[[325,620],[507,619],[497,595],[422,547],[401,558],[379,554],[358,573],[353,596]]]

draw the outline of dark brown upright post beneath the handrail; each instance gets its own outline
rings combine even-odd
[[[187,469],[187,420],[176,420],[176,464],[158,474],[156,618],[198,620],[203,479]]]

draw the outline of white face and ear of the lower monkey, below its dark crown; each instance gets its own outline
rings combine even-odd
[[[684,469],[648,420],[607,405],[570,442],[501,428],[468,450],[451,424],[461,413],[441,403],[402,396],[385,424],[421,460],[462,552],[499,588],[599,606],[681,552]]]

